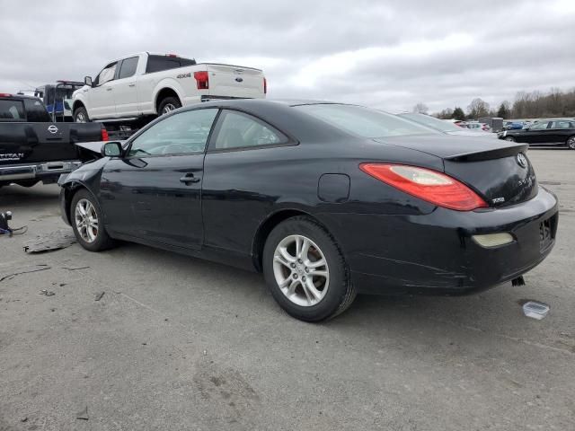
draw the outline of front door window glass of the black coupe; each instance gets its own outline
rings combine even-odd
[[[128,157],[203,153],[217,109],[187,110],[155,123],[132,142]]]

